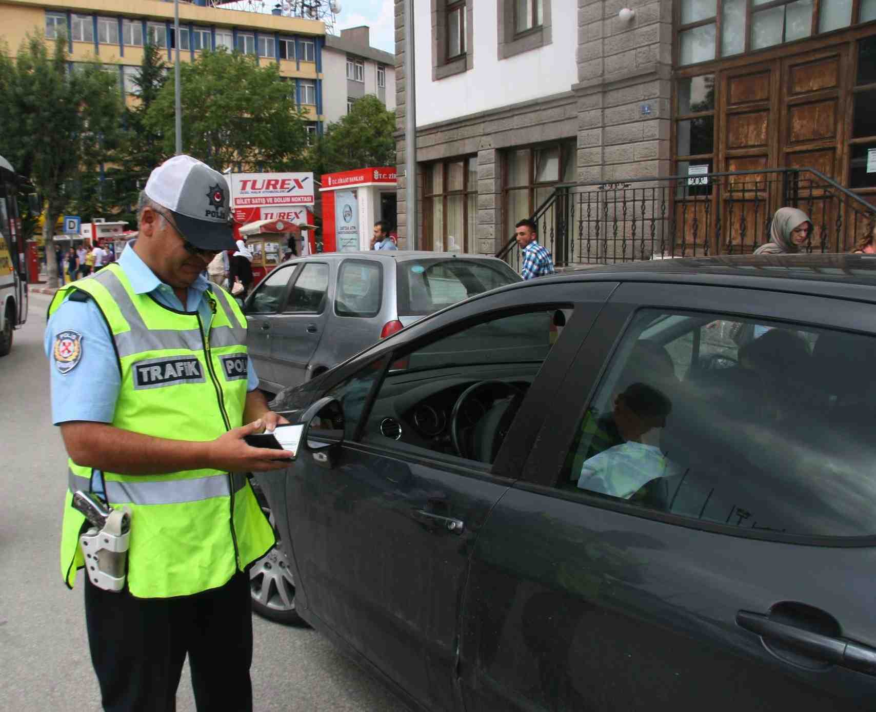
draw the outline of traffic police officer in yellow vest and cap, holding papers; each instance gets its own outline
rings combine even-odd
[[[274,546],[246,476],[292,453],[244,435],[285,422],[257,390],[246,321],[201,276],[234,247],[228,186],[189,156],[152,171],[132,249],[49,307],[53,421],[67,448],[61,575],[86,528],[75,490],[131,509],[121,593],[85,577],[92,662],[107,710],[172,710],[188,654],[198,709],[252,707],[245,573]],[[244,425],[246,423],[247,425]]]

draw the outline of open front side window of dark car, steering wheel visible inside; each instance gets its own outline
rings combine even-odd
[[[493,462],[568,314],[506,313],[394,353],[362,440]]]

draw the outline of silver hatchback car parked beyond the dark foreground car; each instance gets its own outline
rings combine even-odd
[[[279,264],[244,303],[260,387],[277,393],[442,307],[519,275],[496,257],[327,252]]]

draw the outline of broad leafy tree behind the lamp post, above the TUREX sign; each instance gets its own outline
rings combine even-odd
[[[291,85],[271,62],[258,66],[251,54],[203,52],[180,67],[182,148],[216,170],[288,171],[304,166],[307,130]],[[172,154],[173,76],[146,110],[145,126],[162,136]]]

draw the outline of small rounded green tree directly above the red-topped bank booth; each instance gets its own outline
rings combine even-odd
[[[395,166],[395,112],[377,96],[353,102],[350,113],[329,123],[314,146],[314,173],[335,173],[366,166]]]

